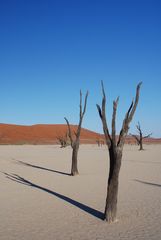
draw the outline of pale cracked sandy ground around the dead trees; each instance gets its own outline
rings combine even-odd
[[[70,147],[0,146],[0,239],[160,240],[161,145],[145,148],[124,148],[119,221],[109,225],[101,220],[105,146],[80,147],[76,177],[62,174],[70,172]]]

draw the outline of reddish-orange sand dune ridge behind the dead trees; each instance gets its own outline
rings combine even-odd
[[[73,131],[76,125],[71,125]],[[0,124],[0,144],[59,144],[58,137],[67,133],[66,124],[36,124],[31,126]],[[82,128],[81,143],[96,144],[98,140],[104,140],[103,134]],[[161,143],[160,139],[147,138],[146,143]],[[128,136],[126,143],[135,144],[135,139]]]

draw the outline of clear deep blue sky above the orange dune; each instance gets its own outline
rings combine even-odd
[[[161,3],[159,0],[1,0],[0,122],[73,124],[79,90],[88,89],[83,127],[102,132],[100,80],[118,95],[117,132],[139,81],[138,121],[161,137]]]

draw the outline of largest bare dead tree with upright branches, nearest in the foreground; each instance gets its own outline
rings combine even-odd
[[[135,110],[138,105],[141,83],[138,84],[136,89],[135,100],[132,101],[125,115],[118,140],[116,139],[115,121],[116,121],[116,112],[117,112],[117,105],[119,102],[119,98],[117,98],[116,101],[113,101],[112,133],[110,135],[109,128],[106,121],[106,95],[104,91],[103,81],[101,82],[101,84],[102,84],[102,94],[103,94],[102,107],[97,105],[97,109],[102,121],[105,141],[108,146],[109,159],[110,159],[104,218],[107,222],[110,223],[110,222],[116,221],[119,172],[121,167],[123,146],[129,130],[129,124],[134,116]]]

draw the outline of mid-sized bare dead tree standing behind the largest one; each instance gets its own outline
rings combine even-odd
[[[85,96],[84,107],[83,107],[83,110],[82,110],[82,92],[80,91],[79,124],[78,124],[76,132],[74,133],[75,138],[73,137],[69,121],[68,121],[67,118],[65,118],[65,121],[66,121],[67,126],[68,126],[68,131],[69,131],[68,133],[69,133],[69,139],[70,139],[71,147],[73,149],[71,176],[75,176],[75,175],[79,174],[79,172],[78,172],[78,150],[79,150],[80,133],[81,133],[81,128],[82,128],[83,117],[84,117],[84,114],[86,112],[87,98],[88,98],[88,91],[87,91],[86,96]]]

